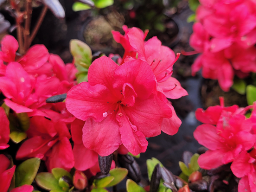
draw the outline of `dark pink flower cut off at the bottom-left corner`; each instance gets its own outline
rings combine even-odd
[[[5,155],[0,154],[0,191],[1,192],[8,191],[12,181],[12,177],[15,172],[16,166],[13,166],[12,168],[8,169],[10,164],[11,164],[10,160]]]

